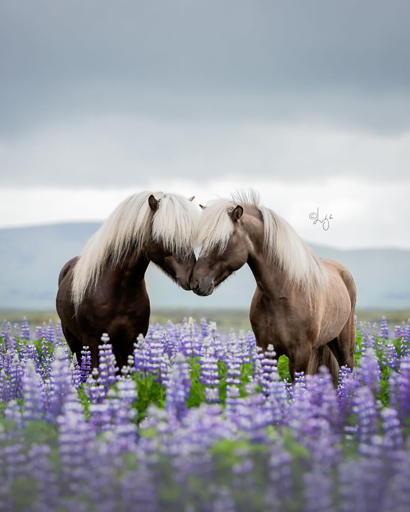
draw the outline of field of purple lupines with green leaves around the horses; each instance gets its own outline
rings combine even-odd
[[[0,511],[407,512],[410,320],[357,328],[335,390],[205,319],[151,326],[119,373],[108,336],[97,371],[58,324],[5,322]]]

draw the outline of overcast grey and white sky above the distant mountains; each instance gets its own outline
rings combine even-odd
[[[0,227],[253,187],[308,241],[410,248],[409,19],[406,0],[1,2]]]

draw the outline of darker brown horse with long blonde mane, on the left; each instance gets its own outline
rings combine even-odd
[[[185,290],[195,265],[197,207],[178,194],[134,194],[120,203],[79,257],[61,269],[57,312],[67,343],[80,361],[108,333],[119,368],[138,334],[147,334],[150,301],[145,272],[150,261]]]

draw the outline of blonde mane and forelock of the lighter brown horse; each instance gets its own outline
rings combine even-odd
[[[259,194],[254,190],[237,192],[232,199],[217,199],[207,204],[198,229],[201,256],[214,249],[220,253],[226,249],[234,229],[229,214],[238,204],[251,214],[259,210],[264,226],[264,253],[279,265],[291,283],[310,291],[325,287],[327,271],[323,263],[288,222],[259,204]]]

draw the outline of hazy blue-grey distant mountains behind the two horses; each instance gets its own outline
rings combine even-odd
[[[79,254],[98,223],[0,229],[0,308],[54,309],[61,267]],[[359,308],[410,309],[410,250],[338,250],[309,244],[321,258],[343,263],[353,274]],[[152,308],[248,308],[255,281],[247,265],[209,297],[178,288],[150,264]]]

